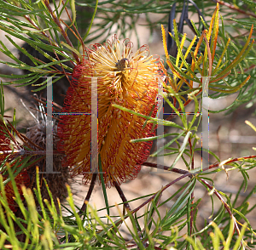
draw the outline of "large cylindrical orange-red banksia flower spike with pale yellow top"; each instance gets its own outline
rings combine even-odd
[[[91,112],[91,77],[97,77],[98,93],[98,152],[101,154],[104,181],[108,187],[135,179],[141,164],[147,159],[151,142],[131,143],[154,135],[152,123],[144,118],[114,108],[122,105],[145,116],[157,111],[158,77],[163,76],[159,58],[149,56],[148,46],[132,53],[132,43],[120,43],[116,36],[107,43],[88,49],[87,59],[73,71],[72,86],[67,90],[62,112]],[[59,150],[64,151],[65,166],[73,176],[84,174],[90,181],[90,115],[61,116]]]

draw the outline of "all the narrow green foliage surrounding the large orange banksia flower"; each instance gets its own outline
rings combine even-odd
[[[238,157],[235,159],[226,159],[221,162],[212,151],[209,153],[216,158],[217,163],[204,168],[195,168],[194,157],[196,151],[201,151],[199,145],[198,129],[201,124],[201,105],[199,100],[202,97],[203,81],[202,77],[209,78],[210,98],[217,99],[226,97],[233,93],[238,93],[236,100],[232,105],[223,111],[234,111],[239,105],[248,103],[247,106],[255,102],[255,71],[256,56],[253,28],[251,25],[255,22],[252,17],[255,15],[255,4],[249,0],[233,1],[238,14],[247,14],[244,20],[236,19],[236,12],[231,25],[225,25],[225,20],[230,17],[230,9],[227,9],[228,3],[224,4],[223,9],[215,9],[215,3],[212,1],[195,1],[198,8],[202,9],[205,16],[211,16],[212,21],[204,25],[205,31],[199,31],[193,22],[191,25],[195,28],[196,36],[189,39],[185,35],[178,33],[177,24],[174,21],[174,35],[172,39],[177,45],[177,57],[169,55],[166,46],[166,34],[164,28],[163,42],[166,54],[166,64],[172,70],[171,74],[166,73],[166,79],[160,79],[164,86],[163,99],[166,101],[172,111],[177,116],[177,120],[167,121],[160,118],[143,116],[135,111],[113,105],[122,111],[127,111],[134,116],[141,116],[152,122],[154,125],[161,124],[176,129],[175,133],[167,133],[150,138],[134,139],[131,142],[137,143],[148,140],[171,138],[165,145],[160,147],[151,156],[175,156],[170,166],[161,166],[154,163],[145,162],[145,166],[152,168],[161,168],[166,171],[179,173],[180,177],[161,187],[154,194],[137,197],[136,201],[141,202],[141,206],[131,211],[121,212],[119,206],[124,206],[127,202],[116,206],[119,216],[113,216],[108,205],[108,196],[106,187],[102,178],[102,190],[105,199],[108,215],[99,216],[96,208],[87,204],[86,213],[79,210],[74,205],[72,190],[67,186],[68,206],[55,203],[55,197],[48,188],[49,201],[43,200],[41,192],[41,179],[39,179],[37,170],[37,189],[30,190],[22,187],[22,194],[19,191],[15,177],[32,167],[38,160],[27,163],[33,150],[27,145],[26,138],[19,134],[15,126],[10,122],[3,120],[4,98],[3,85],[15,84],[25,86],[34,84],[39,77],[53,76],[55,82],[61,77],[68,77],[72,74],[73,66],[79,64],[86,56],[85,43],[91,43],[96,38],[106,40],[106,37],[117,31],[120,37],[129,37],[131,32],[136,31],[136,23],[140,14],[145,14],[147,27],[151,31],[154,28],[160,29],[160,23],[166,24],[167,15],[170,12],[170,6],[177,3],[177,12],[183,9],[183,1],[84,1],[83,3],[74,2],[56,2],[51,4],[48,1],[9,1],[0,0],[1,20],[0,29],[5,31],[9,42],[17,50],[25,54],[32,60],[33,66],[26,65],[13,54],[8,46],[0,41],[0,51],[7,55],[12,61],[0,61],[0,63],[10,67],[30,71],[26,75],[4,75],[0,77],[9,78],[10,82],[3,82],[0,88],[0,107],[1,107],[1,132],[10,139],[11,150],[9,158],[6,156],[1,164],[0,175],[0,249],[244,249],[245,247],[254,247],[255,232],[253,226],[247,219],[247,213],[250,213],[255,207],[249,208],[248,199],[253,196],[255,187],[250,190],[248,196],[238,205],[238,197],[241,190],[247,190],[249,178],[248,171],[256,166],[255,156]],[[86,27],[79,23],[79,11],[76,8],[89,8],[86,10]],[[247,8],[245,8],[247,7]],[[91,8],[91,9],[90,9]],[[225,9],[226,8],[226,9]],[[251,9],[249,9],[251,8]],[[189,7],[189,10],[193,9]],[[81,11],[81,9],[79,9]],[[195,10],[195,9],[194,9]],[[70,12],[69,12],[70,11]],[[222,16],[219,18],[219,12]],[[66,13],[67,21],[61,19],[61,14]],[[161,19],[154,23],[150,20],[150,14],[163,14]],[[129,21],[127,21],[129,20]],[[221,21],[221,24],[219,23]],[[241,33],[241,26],[246,32],[246,37]],[[250,31],[247,29],[250,28]],[[84,33],[80,34],[80,31]],[[100,33],[99,33],[100,31]],[[237,32],[236,37],[232,34]],[[107,35],[108,34],[108,35]],[[138,36],[138,35],[137,35]],[[169,34],[167,34],[169,36]],[[50,60],[44,63],[38,58],[34,58],[24,48],[15,43],[13,37],[28,43],[35,48],[39,54]],[[189,41],[189,45],[185,42]],[[55,53],[55,58],[49,54]],[[187,61],[189,55],[192,62]],[[69,62],[70,64],[67,64]],[[250,76],[249,76],[250,75]],[[46,82],[38,86],[38,90],[46,87]],[[194,88],[193,82],[199,84]],[[185,87],[184,87],[185,85]],[[194,103],[194,115],[186,115],[186,106]],[[219,111],[218,111],[219,112]],[[200,115],[198,115],[200,114]],[[171,116],[172,118],[172,116]],[[14,116],[15,123],[15,116]],[[7,125],[8,124],[8,125]],[[253,125],[250,124],[254,129]],[[24,145],[17,143],[15,134],[20,137]],[[1,134],[2,135],[2,134]],[[1,143],[1,145],[3,145]],[[206,151],[206,149],[204,149]],[[5,150],[4,150],[5,151]],[[6,152],[1,151],[1,155]],[[20,155],[26,155],[22,157]],[[177,162],[183,161],[186,170],[177,169]],[[10,168],[11,166],[11,168]],[[229,167],[228,167],[229,166]],[[101,171],[101,159],[99,158],[99,168]],[[235,198],[227,196],[224,192],[217,190],[212,180],[212,173],[239,170],[243,179],[239,192]],[[210,177],[207,177],[210,176]],[[166,200],[162,200],[162,195],[170,186],[178,183],[181,179],[188,178],[177,191]],[[10,185],[15,192],[15,202],[19,207],[20,215],[14,213],[9,206],[8,192],[6,187]],[[46,183],[46,182],[45,182]],[[212,221],[205,221],[202,228],[197,228],[197,214],[200,213],[199,203],[201,199],[195,199],[195,186],[202,185],[207,190],[212,201]],[[216,200],[220,207],[216,212]],[[143,202],[143,198],[148,198]],[[129,203],[134,200],[128,201]],[[172,202],[166,213],[161,213],[160,209],[167,202]],[[38,204],[38,207],[37,205]],[[143,210],[144,209],[144,210]],[[79,212],[78,212],[79,210]],[[143,213],[142,213],[143,211]],[[64,213],[65,212],[65,213]],[[68,215],[67,215],[68,214]],[[141,222],[143,219],[143,223]],[[129,226],[126,221],[131,221]],[[245,221],[246,224],[240,226]],[[132,241],[127,241],[125,236],[119,230],[123,224],[129,232]],[[185,231],[185,236],[181,235]],[[172,248],[170,248],[172,247]],[[175,248],[174,248],[175,247]]]

